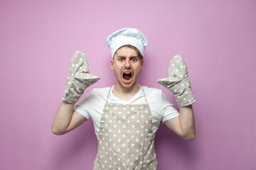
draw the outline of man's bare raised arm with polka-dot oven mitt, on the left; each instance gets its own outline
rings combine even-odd
[[[73,110],[74,104],[82,96],[85,89],[95,84],[99,79],[100,77],[89,74],[89,64],[85,54],[80,51],[75,52],[70,62],[66,89],[62,96],[63,102],[60,104],[53,121],[52,131],[54,134],[63,135],[87,120],[83,115]]]

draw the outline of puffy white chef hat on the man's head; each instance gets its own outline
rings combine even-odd
[[[142,56],[144,56],[144,50],[146,45],[148,45],[143,33],[135,28],[122,28],[121,30],[117,30],[108,36],[106,42],[107,46],[110,47],[112,58],[117,49],[124,45],[132,45],[136,47]]]

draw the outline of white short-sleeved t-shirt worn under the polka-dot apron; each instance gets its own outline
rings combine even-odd
[[[92,118],[95,134],[97,138],[100,132],[100,119],[103,113],[103,108],[107,102],[107,95],[110,92],[109,103],[118,104],[141,104],[146,103],[144,98],[144,92],[146,94],[146,100],[149,103],[149,108],[152,115],[152,130],[155,134],[159,128],[159,123],[162,120],[169,120],[179,115],[178,111],[174,108],[173,104],[170,103],[169,99],[163,94],[160,89],[148,88],[142,86],[138,93],[130,98],[128,101],[124,101],[117,98],[112,94],[112,87],[105,87],[102,89],[93,89],[89,94],[82,99],[82,101],[75,106],[75,111],[85,116],[85,118]],[[110,90],[111,89],[111,90]]]

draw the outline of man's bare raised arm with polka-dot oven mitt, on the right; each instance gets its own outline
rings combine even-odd
[[[158,82],[173,92],[180,107],[180,115],[166,120],[164,125],[183,139],[193,140],[196,137],[196,130],[191,104],[195,103],[196,100],[191,91],[188,69],[180,55],[176,55],[171,60],[168,77],[159,79]]]

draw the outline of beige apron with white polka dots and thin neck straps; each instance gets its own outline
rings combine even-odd
[[[109,96],[110,92],[100,120],[93,169],[157,169],[152,116],[145,93],[146,104],[109,103]]]

